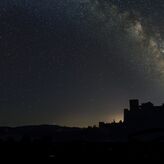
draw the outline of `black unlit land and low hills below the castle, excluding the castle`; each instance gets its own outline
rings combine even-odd
[[[126,129],[26,126],[0,128],[0,160],[20,163],[162,161],[164,130],[127,135]],[[115,133],[114,133],[115,132]]]

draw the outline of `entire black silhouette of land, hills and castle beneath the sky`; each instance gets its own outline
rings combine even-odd
[[[35,125],[0,127],[1,159],[62,161],[160,160],[163,156],[164,106],[130,100],[124,121],[99,127]],[[159,121],[160,120],[160,121]],[[119,157],[119,158],[118,158]]]

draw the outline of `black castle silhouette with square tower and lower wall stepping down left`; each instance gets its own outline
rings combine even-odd
[[[99,122],[99,128],[110,130],[112,133],[117,131],[126,134],[164,129],[164,104],[155,106],[151,102],[140,104],[138,99],[129,100],[129,109],[124,109],[123,122]]]

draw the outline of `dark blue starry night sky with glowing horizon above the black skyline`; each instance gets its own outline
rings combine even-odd
[[[163,0],[1,0],[0,125],[122,119],[164,102]]]

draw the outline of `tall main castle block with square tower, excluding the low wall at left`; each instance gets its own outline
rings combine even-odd
[[[147,102],[139,104],[139,100],[129,100],[130,109],[124,109],[124,124],[127,128],[152,129],[164,128],[164,104],[154,106]]]

